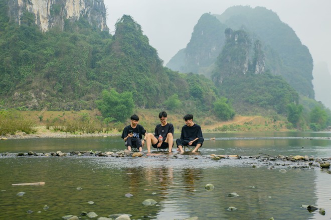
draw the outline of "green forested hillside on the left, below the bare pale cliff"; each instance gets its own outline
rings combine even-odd
[[[63,31],[41,32],[32,13],[26,12],[18,25],[9,22],[6,10],[1,12],[1,107],[93,109],[102,90],[111,88],[131,92],[137,107],[169,106],[167,100],[175,97],[182,101],[181,109],[209,110],[216,99],[211,80],[163,67],[129,15],[118,20],[111,35],[84,17],[68,20]]]

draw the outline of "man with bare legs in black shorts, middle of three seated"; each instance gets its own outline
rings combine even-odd
[[[169,152],[172,152],[174,145],[174,125],[167,122],[167,112],[161,111],[158,114],[161,123],[155,127],[154,134],[147,133],[146,145],[147,152],[150,153],[150,146],[154,148],[168,148]]]

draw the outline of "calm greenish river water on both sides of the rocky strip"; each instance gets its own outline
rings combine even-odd
[[[89,219],[82,211],[95,212],[93,219],[115,213],[131,219],[330,219],[331,174],[326,170],[253,168],[237,159],[205,157],[263,153],[329,158],[329,137],[330,132],[207,133],[199,155],[170,158],[0,156],[0,219],[63,219],[70,214]],[[0,153],[90,149],[115,152],[124,145],[119,136],[0,140]],[[39,181],[45,185],[12,186]],[[206,190],[208,183],[215,188]],[[229,197],[232,192],[239,196]],[[149,198],[157,203],[143,205]],[[325,215],[301,205],[324,208]],[[230,206],[237,209],[228,210]]]

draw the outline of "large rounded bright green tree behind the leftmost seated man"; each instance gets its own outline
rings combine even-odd
[[[96,105],[103,117],[113,117],[118,121],[127,119],[134,108],[132,93],[128,91],[118,93],[114,88],[110,91],[103,90],[102,99],[97,100]]]

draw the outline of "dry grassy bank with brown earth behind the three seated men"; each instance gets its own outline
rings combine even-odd
[[[139,123],[145,127],[147,132],[153,132],[155,125],[160,123],[158,118],[159,111],[159,109],[136,109],[134,113],[139,116]],[[180,132],[181,127],[185,124],[183,120],[184,114],[172,111],[167,112],[168,122],[174,124],[175,132]],[[123,123],[105,123],[102,121],[101,113],[96,109],[81,111],[20,111],[19,113],[37,127],[45,126],[49,131],[71,133],[121,133],[123,127],[130,123],[129,118]],[[200,124],[205,132],[288,130],[284,120],[256,115],[236,115],[233,120],[229,121],[221,121],[214,115],[195,115],[194,121]]]

